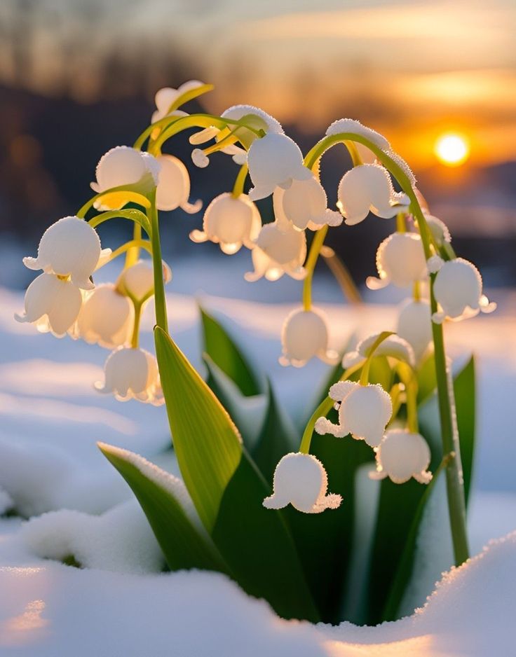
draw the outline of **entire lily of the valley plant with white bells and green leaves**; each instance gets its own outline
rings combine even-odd
[[[463,400],[473,403],[473,376],[471,366],[452,375],[443,326],[493,305],[477,268],[456,257],[449,230],[430,214],[407,163],[385,137],[345,118],[303,155],[261,109],[237,105],[220,116],[179,109],[211,88],[190,81],[159,90],[151,124],[133,146],[116,146],[100,158],[95,195],[53,223],[36,256],[24,259],[39,274],[17,319],[109,350],[104,380],[95,383],[100,392],[166,404],[198,523],[175,497],[170,475],[130,452],[100,446],[133,488],[170,569],[224,572],[285,617],[395,618],[440,473],[449,510],[442,532],[451,532],[456,564],[468,558],[465,486],[473,429]],[[170,338],[165,284],[171,272],[161,256],[159,211],[201,210],[189,200],[184,163],[163,152],[183,131],[198,167],[214,167],[215,153],[238,167],[233,188],[210,202],[191,239],[215,242],[224,254],[249,249],[250,282],[283,275],[302,281],[299,308],[283,326],[280,362],[300,368],[318,358],[332,371],[311,417],[297,422],[299,435],[269,382],[210,315],[203,312],[210,387]],[[339,144],[348,149],[351,168],[337,190],[327,191],[321,159]],[[275,220],[262,226],[255,201],[267,197]],[[407,300],[397,326],[379,326],[339,354],[329,346],[325,315],[312,305],[313,272],[328,230],[351,231],[341,225],[376,221],[371,214],[393,220],[393,233],[379,245],[378,277],[367,284],[407,289]],[[102,249],[97,229],[112,219],[133,223],[134,235],[111,251]],[[97,270],[121,256],[116,281],[95,284]],[[139,346],[142,310],[152,298],[156,355]],[[254,433],[245,422],[246,396],[267,401],[263,427]],[[435,398],[438,417],[423,426],[421,409]],[[367,511],[376,524],[365,545],[357,543],[363,539],[357,509],[365,508],[357,490],[367,478],[380,492]],[[357,551],[369,555],[360,576],[350,572]]]

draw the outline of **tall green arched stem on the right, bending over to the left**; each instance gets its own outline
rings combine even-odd
[[[353,132],[341,132],[325,137],[315,144],[306,158],[310,157],[313,161],[322,157],[322,154],[335,144],[345,141],[358,141],[360,144],[367,146],[370,151],[376,155],[376,158],[388,169],[400,184],[402,190],[410,199],[410,209],[416,219],[421,242],[425,251],[425,257],[428,260],[432,256],[430,245],[433,244],[435,251],[439,253],[440,249],[433,239],[433,235],[428,228],[425,216],[419,205],[419,200],[412,188],[412,184],[405,171],[400,167],[398,162],[393,160],[388,153],[382,151],[379,146],[372,141],[363,137],[362,134]],[[432,313],[437,312],[437,301],[433,292],[435,274],[430,275],[430,308]],[[442,452],[450,454],[454,452],[454,457],[450,458],[446,464],[446,482],[448,497],[448,512],[451,528],[451,538],[454,544],[454,555],[456,565],[461,565],[469,558],[468,534],[466,530],[466,502],[464,497],[464,486],[462,480],[462,466],[459,452],[454,450],[454,431],[453,417],[455,413],[453,386],[449,385],[447,377],[446,352],[444,351],[444,336],[442,324],[432,322],[432,335],[435,352],[435,374],[437,378],[437,399],[439,401],[439,415],[441,424]]]

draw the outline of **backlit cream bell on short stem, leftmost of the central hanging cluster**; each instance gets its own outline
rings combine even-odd
[[[212,200],[206,208],[203,230],[193,230],[190,238],[194,242],[215,242],[225,254],[235,254],[242,244],[254,248],[262,218],[256,205],[246,194],[234,197],[225,192]]]

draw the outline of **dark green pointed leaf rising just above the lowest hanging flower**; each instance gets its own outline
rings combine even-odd
[[[272,481],[278,461],[288,452],[297,451],[301,436],[297,434],[285,410],[278,404],[269,379],[267,379],[267,400],[262,429],[251,450],[251,455],[266,480]]]

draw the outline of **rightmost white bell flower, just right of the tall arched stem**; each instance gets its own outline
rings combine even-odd
[[[463,258],[455,258],[447,262],[438,256],[429,263],[430,270],[437,270],[433,284],[433,293],[440,312],[434,312],[432,321],[440,324],[445,317],[449,319],[468,319],[482,312],[492,312],[495,303],[489,303],[482,294],[482,276],[479,270]]]

